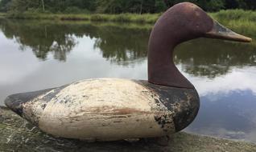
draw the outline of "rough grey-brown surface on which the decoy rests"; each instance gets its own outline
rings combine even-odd
[[[19,118],[7,108],[0,106],[0,151],[9,152],[253,152],[256,145],[234,142],[221,138],[209,138],[180,132],[173,134],[166,146],[159,145],[156,138],[138,142],[85,142],[66,138],[53,138],[43,134],[37,127]]]

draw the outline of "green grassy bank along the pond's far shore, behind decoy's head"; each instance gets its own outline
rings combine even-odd
[[[161,14],[0,14],[5,18],[19,19],[46,19],[57,21],[90,21],[90,22],[130,22],[147,23],[153,26]],[[218,22],[232,30],[239,31],[251,37],[255,37],[256,11],[250,10],[221,10],[217,13],[209,13]]]

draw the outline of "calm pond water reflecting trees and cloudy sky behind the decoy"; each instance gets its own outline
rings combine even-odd
[[[147,79],[149,25],[0,20],[0,105],[85,78]],[[239,32],[239,31],[237,31]],[[185,131],[256,142],[256,44],[200,38],[176,48],[200,111]]]

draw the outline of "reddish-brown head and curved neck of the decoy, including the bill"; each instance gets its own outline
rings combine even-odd
[[[195,4],[176,4],[159,18],[151,31],[148,82],[163,86],[194,88],[175,66],[173,51],[181,42],[200,37],[251,42],[251,38],[221,26]]]

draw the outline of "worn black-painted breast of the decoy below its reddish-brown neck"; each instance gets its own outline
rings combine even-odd
[[[200,106],[200,98],[196,89],[161,86],[147,81],[137,81],[159,96],[156,102],[163,103],[172,112],[175,131],[183,130],[196,117]],[[166,122],[161,122],[165,125]]]

